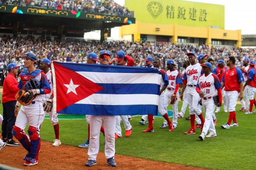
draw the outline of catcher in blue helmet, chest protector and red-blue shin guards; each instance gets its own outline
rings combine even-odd
[[[42,123],[42,117],[44,117],[45,112],[43,109],[43,97],[44,94],[51,92],[51,88],[45,73],[42,70],[35,69],[34,64],[36,63],[37,56],[32,52],[25,53],[24,56],[24,66],[27,70],[23,70],[19,77],[20,82],[18,85],[19,89],[29,88],[30,79],[37,82],[39,87],[36,89],[26,89],[24,96],[33,93],[33,101],[29,105],[22,105],[19,109],[19,101],[17,101],[15,106],[15,115],[17,116],[15,125],[12,130],[12,135],[22,144],[22,146],[27,150],[27,154],[23,160],[25,160],[24,165],[32,166],[38,163],[38,153],[40,150],[41,139],[39,136],[40,125]],[[32,87],[32,86],[31,86]],[[30,93],[30,94],[29,94]],[[29,123],[29,129],[27,130],[29,136],[24,132],[26,125]]]

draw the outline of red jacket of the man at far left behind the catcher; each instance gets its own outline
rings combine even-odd
[[[16,77],[8,73],[4,79],[2,103],[16,100],[15,95],[19,91]]]

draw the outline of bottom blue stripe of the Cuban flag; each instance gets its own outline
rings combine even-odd
[[[157,105],[72,104],[58,113],[74,115],[157,115]]]

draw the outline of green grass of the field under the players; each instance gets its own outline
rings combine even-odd
[[[179,103],[181,108],[182,103]],[[223,107],[222,107],[223,108]],[[240,105],[237,105],[237,110]],[[172,109],[170,106],[168,109]],[[0,105],[0,113],[3,113]],[[189,115],[188,108],[185,117]],[[217,137],[206,138],[201,141],[197,129],[195,135],[184,135],[190,128],[190,122],[184,118],[178,119],[178,127],[173,132],[159,126],[163,118],[156,117],[154,133],[142,133],[147,125],[140,125],[141,116],[132,117],[132,135],[116,139],[116,154],[146,158],[155,161],[178,163],[188,166],[204,167],[209,169],[256,169],[256,114],[245,115],[237,111],[239,127],[222,129],[229,113],[223,109],[217,116]],[[87,140],[86,120],[59,120],[61,143],[78,146]],[[123,124],[123,136],[125,129]],[[52,142],[54,139],[53,126],[49,119],[45,119],[40,131],[42,140]],[[100,150],[104,150],[104,137],[100,136]],[[117,162],[118,163],[118,162]]]

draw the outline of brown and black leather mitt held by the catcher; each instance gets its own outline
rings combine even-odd
[[[26,106],[32,102],[34,93],[32,90],[19,90],[18,93],[16,93],[15,98],[20,104]]]

